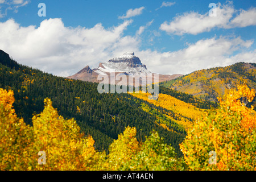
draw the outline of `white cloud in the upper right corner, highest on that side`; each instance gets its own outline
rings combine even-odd
[[[217,4],[217,16],[209,16],[208,12],[199,14],[197,12],[184,13],[177,15],[171,22],[164,22],[160,26],[160,30],[166,31],[168,34],[197,35],[201,32],[210,31],[213,28],[234,28],[256,25],[256,9],[240,10],[240,14],[235,10],[232,2],[226,5]]]

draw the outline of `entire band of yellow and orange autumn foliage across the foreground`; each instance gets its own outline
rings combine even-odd
[[[218,109],[191,124],[180,144],[184,159],[156,131],[139,142],[130,126],[110,144],[109,154],[96,151],[93,138],[82,134],[74,119],[59,115],[48,98],[30,126],[15,114],[13,91],[0,89],[0,97],[1,170],[256,169],[256,119],[253,107],[246,107],[255,92],[246,85],[218,98]],[[45,164],[39,164],[39,151],[46,154]]]

